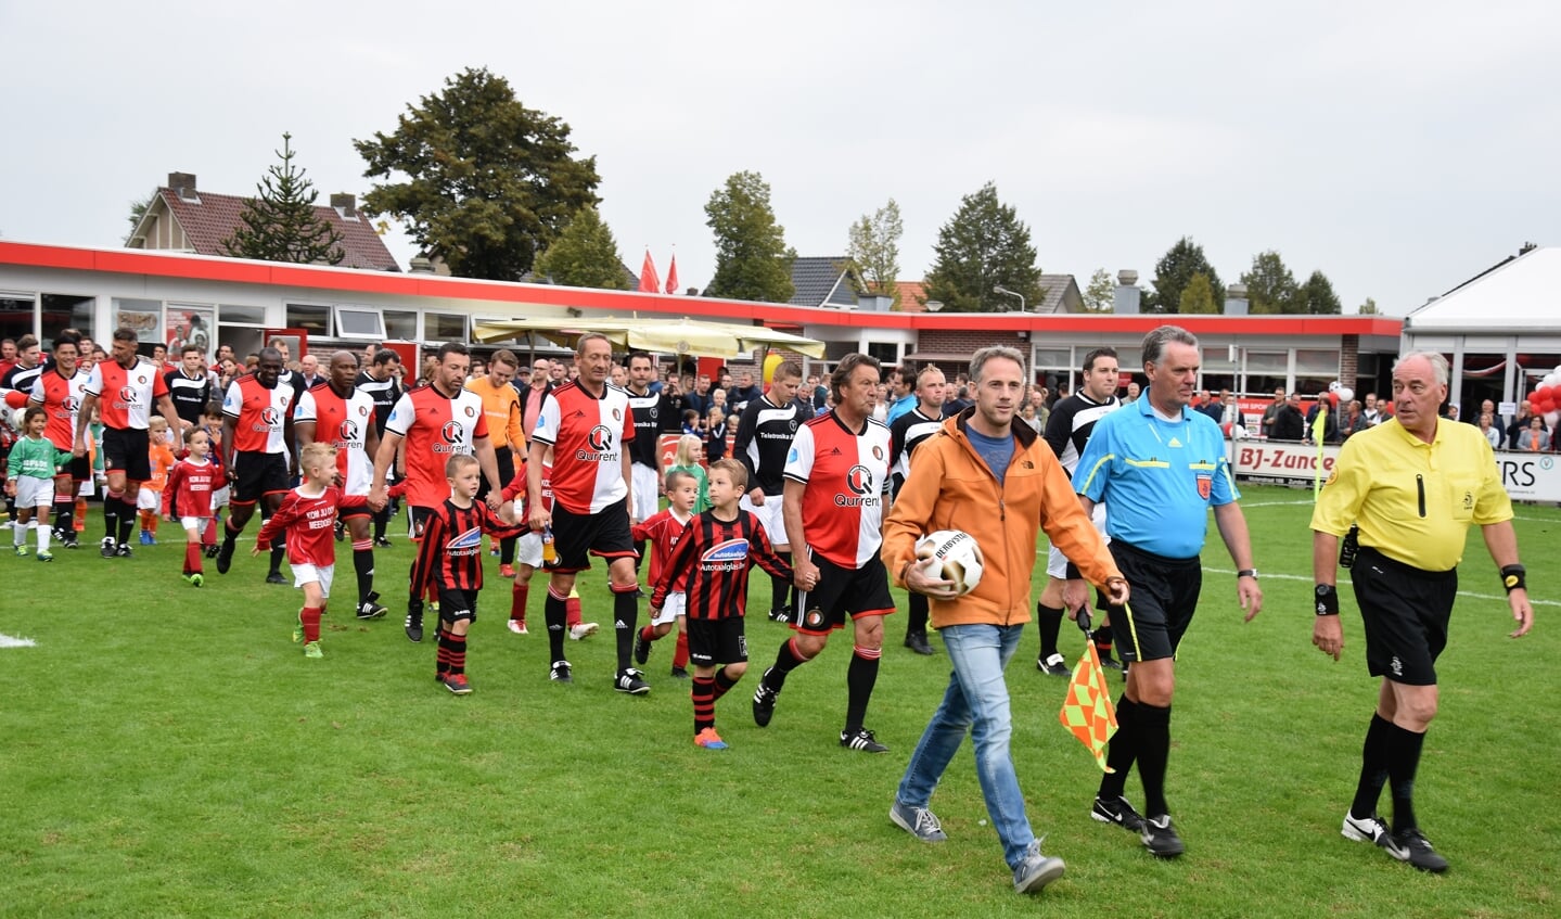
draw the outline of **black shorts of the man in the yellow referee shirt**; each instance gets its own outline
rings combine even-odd
[[[1421,571],[1361,546],[1350,568],[1366,624],[1366,669],[1408,687],[1436,685],[1436,658],[1447,648],[1447,621],[1458,569]]]

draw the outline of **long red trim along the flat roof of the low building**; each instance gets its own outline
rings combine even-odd
[[[1272,335],[1388,335],[1399,337],[1400,317],[1316,317],[1316,315],[1099,315],[1099,314],[932,314],[932,312],[855,312],[787,306],[782,303],[749,303],[741,300],[710,300],[663,293],[624,290],[590,290],[551,284],[517,284],[507,281],[475,281],[437,275],[401,275],[364,271],[328,265],[292,265],[286,262],[251,262],[217,256],[162,253],[142,250],[91,250],[61,245],[0,240],[0,265],[66,268],[76,271],[109,271],[119,275],[150,275],[155,278],[194,278],[233,284],[273,287],[312,287],[351,293],[384,293],[395,296],[439,296],[445,300],[485,300],[514,303],[517,312],[526,306],[573,306],[607,314],[720,315],[729,321],[759,320],[765,326],[848,326],[876,329],[948,329],[994,332],[1125,332],[1144,334],[1174,321],[1194,334],[1272,334]]]

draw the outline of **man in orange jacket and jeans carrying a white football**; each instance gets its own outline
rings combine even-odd
[[[1037,529],[1044,527],[1079,571],[1127,602],[1127,579],[1080,509],[1057,456],[1027,424],[1015,424],[1024,395],[1024,359],[1013,348],[983,348],[971,359],[976,404],[946,420],[916,448],[916,462],[884,527],[882,557],[894,582],[932,598],[938,629],[954,663],[943,704],[927,724],[901,779],[890,819],[924,843],[946,836],[927,810],[938,779],[971,733],[987,813],[1013,869],[1013,886],[1035,892],[1063,875],[1063,860],[1041,853],[1024,813],[1013,757],[1012,718],[1002,671],[1030,621],[1030,573]],[[1001,509],[1001,513],[999,513]],[[980,582],[965,596],[916,559],[916,538],[974,521],[994,526],[976,535]]]

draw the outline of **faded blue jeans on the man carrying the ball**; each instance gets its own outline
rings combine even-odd
[[[896,797],[910,807],[927,807],[938,779],[969,732],[976,743],[976,777],[980,780],[987,813],[1002,841],[1002,857],[1013,868],[1024,861],[1035,841],[1024,816],[1019,777],[1008,755],[1013,721],[1008,713],[1008,685],[1004,668],[1019,649],[1024,626],[946,626],[938,630],[943,648],[954,662],[943,704],[932,715],[927,730],[910,755]]]

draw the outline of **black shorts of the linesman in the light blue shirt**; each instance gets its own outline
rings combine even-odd
[[[1111,540],[1111,557],[1132,585],[1127,607],[1107,607],[1111,638],[1124,662],[1174,658],[1193,624],[1197,594],[1204,588],[1204,565],[1191,559],[1166,559]]]

